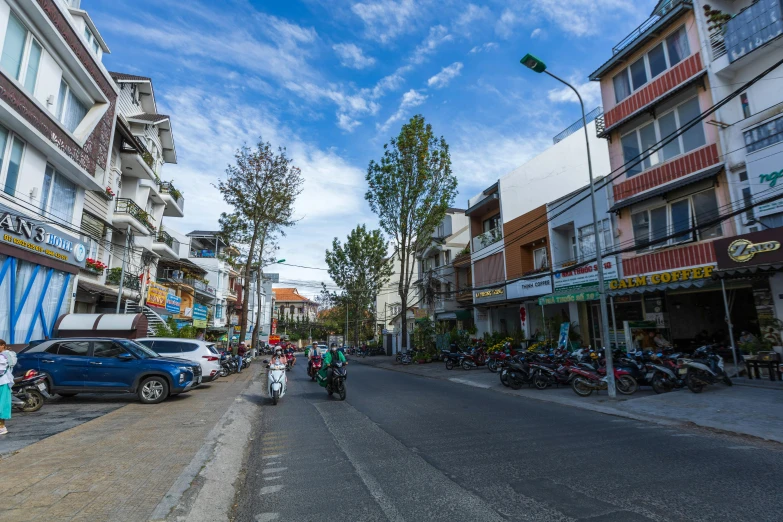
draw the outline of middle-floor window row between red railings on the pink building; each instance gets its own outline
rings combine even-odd
[[[634,129],[620,138],[623,148],[623,159],[626,163],[637,161],[639,154],[654,147],[658,142],[666,140],[672,133],[677,132],[700,114],[699,98],[694,97],[679,104],[657,120]],[[704,126],[702,123],[697,123],[682,135],[677,136],[675,140],[667,143],[661,150],[650,154],[639,165],[628,168],[626,174],[628,177],[635,176],[658,163],[690,152],[704,146],[706,143]]]

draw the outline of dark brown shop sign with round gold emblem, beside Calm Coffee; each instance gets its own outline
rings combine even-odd
[[[783,230],[773,228],[713,242],[718,269],[783,263]]]

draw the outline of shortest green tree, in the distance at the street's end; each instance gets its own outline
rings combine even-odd
[[[364,225],[357,225],[348,234],[344,245],[334,238],[332,250],[326,251],[329,276],[343,289],[347,303],[356,310],[354,317],[357,322],[363,320],[362,312],[367,311],[391,278],[388,249],[380,230],[367,231]],[[358,342],[357,327],[354,329],[354,344]]]

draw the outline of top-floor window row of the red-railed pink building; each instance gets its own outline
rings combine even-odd
[[[682,26],[669,35],[665,42],[650,49],[630,67],[612,78],[615,101],[620,103],[633,91],[644,87],[649,80],[680,63],[690,53],[688,35],[685,33],[685,26]]]

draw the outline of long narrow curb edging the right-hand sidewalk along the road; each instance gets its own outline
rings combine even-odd
[[[384,362],[386,362],[386,361],[384,361]],[[391,362],[391,361],[389,361],[389,362]],[[615,416],[615,417],[622,417],[622,418],[632,419],[632,420],[637,420],[637,421],[642,421],[642,422],[649,422],[649,423],[652,423],[652,424],[658,424],[660,426],[690,428],[690,429],[700,428],[700,429],[710,430],[711,432],[714,432],[714,433],[721,433],[721,434],[733,435],[733,436],[749,437],[749,438],[760,440],[760,441],[774,442],[774,443],[778,443],[778,444],[783,444],[783,434],[781,434],[781,436],[779,438],[764,438],[764,437],[759,437],[759,436],[752,435],[752,434],[749,434],[749,433],[742,433],[742,432],[737,432],[737,431],[721,429],[721,428],[718,428],[718,427],[715,427],[715,426],[709,426],[709,425],[705,425],[705,424],[698,424],[698,423],[690,421],[690,420],[689,421],[681,421],[681,420],[678,420],[678,419],[671,419],[671,418],[668,418],[668,417],[661,417],[661,416],[647,415],[647,414],[645,414],[645,415],[637,415],[635,413],[631,413],[631,412],[627,412],[627,411],[624,411],[624,410],[620,410],[620,409],[614,408],[612,406],[601,406],[601,405],[597,405],[597,404],[590,404],[590,403],[587,403],[587,402],[582,402],[582,401],[579,401],[579,400],[561,399],[559,397],[546,396],[546,395],[543,395],[543,394],[540,397],[539,396],[531,396],[531,395],[519,395],[519,394],[513,393],[513,390],[503,388],[502,385],[501,386],[489,386],[489,387],[486,387],[486,386],[482,385],[481,383],[473,383],[473,382],[469,383],[469,382],[466,382],[467,381],[466,379],[459,379],[459,378],[453,378],[453,377],[440,377],[440,376],[436,376],[436,375],[422,375],[422,374],[419,374],[419,373],[416,373],[416,372],[410,372],[410,371],[404,370],[403,369],[403,368],[405,368],[404,365],[400,365],[400,368],[394,368],[394,367],[388,367],[388,366],[381,366],[380,364],[367,364],[367,363],[362,363],[362,362],[359,362],[359,364],[363,364],[364,366],[372,366],[372,367],[378,368],[380,370],[387,370],[387,371],[399,372],[399,373],[407,373],[409,375],[416,375],[418,377],[425,377],[425,378],[429,378],[429,379],[436,379],[436,380],[439,380],[439,381],[453,382],[455,384],[462,384],[464,386],[473,386],[473,387],[483,388],[483,389],[486,389],[486,390],[489,390],[489,391],[493,391],[495,393],[502,393],[502,394],[505,394],[505,395],[510,395],[512,397],[519,397],[519,398],[523,398],[523,399],[533,399],[533,400],[537,400],[537,401],[541,401],[541,402],[560,404],[561,406],[572,406],[574,408],[580,408],[580,409],[583,409],[583,410],[594,411],[596,413],[603,413],[605,415],[612,415],[612,416]]]

